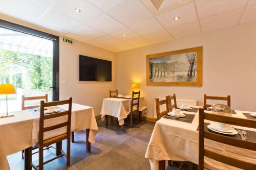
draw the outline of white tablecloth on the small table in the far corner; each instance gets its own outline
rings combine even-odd
[[[119,125],[124,124],[124,118],[131,112],[131,99],[106,98],[103,99],[101,107],[101,119],[104,120],[105,115],[111,115],[118,118]],[[146,109],[146,102],[143,97],[140,98],[139,111]]]

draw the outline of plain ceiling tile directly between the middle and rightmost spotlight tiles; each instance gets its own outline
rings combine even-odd
[[[161,24],[154,17],[147,20],[139,21],[134,25],[131,25],[130,28],[140,35],[147,35],[164,30]]]

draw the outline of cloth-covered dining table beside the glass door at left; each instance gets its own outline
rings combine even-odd
[[[59,109],[68,110],[68,105],[60,105]],[[39,109],[28,109],[11,112],[12,117],[0,118],[0,169],[10,169],[7,156],[25,150],[25,169],[31,169],[31,147],[38,143]],[[56,117],[45,120],[46,126],[52,126],[65,121],[66,117]],[[91,143],[95,142],[98,126],[94,109],[90,106],[72,104],[71,131],[86,130],[87,152],[91,150]],[[67,128],[62,127],[44,133],[44,139],[65,133]],[[58,148],[59,150],[61,148]]]

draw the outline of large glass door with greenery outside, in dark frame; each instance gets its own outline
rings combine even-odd
[[[55,39],[39,36],[3,28],[0,25],[0,84],[11,83],[17,93],[8,95],[9,112],[21,110],[22,95],[48,94],[49,101],[59,98],[56,42]],[[38,104],[39,101],[25,103]],[[6,98],[5,95],[0,95],[0,113],[5,111]]]

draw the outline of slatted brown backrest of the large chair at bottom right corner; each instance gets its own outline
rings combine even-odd
[[[220,114],[205,113],[204,110],[200,108],[199,109],[199,170],[204,169],[204,156],[217,160],[219,162],[234,166],[234,167],[241,168],[241,169],[248,169],[248,170],[256,169],[256,164],[252,164],[249,162],[241,161],[239,159],[227,157],[219,153],[204,149],[204,138],[207,138],[207,139],[221,142],[224,144],[229,144],[234,147],[256,151],[256,143],[254,142],[205,131],[204,129],[205,119],[213,122],[220,122],[220,123],[229,124],[229,125],[236,125],[236,126],[247,127],[247,128],[256,128],[256,120],[230,117],[230,116],[225,116]]]

